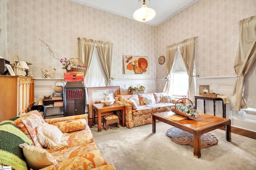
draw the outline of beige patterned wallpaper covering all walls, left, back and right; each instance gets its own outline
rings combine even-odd
[[[200,76],[235,75],[234,58],[238,40],[238,21],[256,15],[255,0],[199,0],[186,10],[153,27],[69,0],[1,0],[0,55],[32,63],[34,77],[42,76],[41,67],[56,68],[62,78],[61,64],[54,59],[44,40],[60,57],[77,57],[77,37],[112,42],[114,78],[164,78],[166,46],[198,37],[197,73]],[[7,6],[8,8],[3,8]],[[3,10],[2,10],[3,8]],[[3,20],[3,22],[2,22]],[[2,32],[2,33],[3,33]],[[6,43],[7,42],[7,43]],[[5,49],[4,47],[8,48]],[[150,58],[150,74],[125,75],[122,55]]]

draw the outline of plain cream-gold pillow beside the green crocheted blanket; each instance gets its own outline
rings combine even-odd
[[[20,147],[23,150],[28,166],[33,170],[38,170],[58,163],[46,149],[28,145],[27,143],[20,144]]]

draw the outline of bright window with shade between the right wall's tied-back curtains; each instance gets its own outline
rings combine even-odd
[[[188,94],[188,74],[178,47],[177,55],[174,59],[174,66],[171,74],[172,96],[187,97]]]

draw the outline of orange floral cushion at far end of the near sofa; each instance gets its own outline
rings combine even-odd
[[[84,129],[86,124],[86,119],[75,119],[52,123],[51,125],[58,127],[63,133],[68,133]]]

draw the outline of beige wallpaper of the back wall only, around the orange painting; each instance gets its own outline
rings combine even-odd
[[[42,76],[41,67],[56,68],[56,78],[63,78],[60,57],[78,55],[77,37],[113,43],[114,78],[156,77],[155,28],[114,14],[103,12],[69,0],[8,0],[8,59],[18,55],[30,66],[34,77]],[[146,56],[150,73],[124,75],[122,55]],[[4,56],[6,57],[6,56]]]

